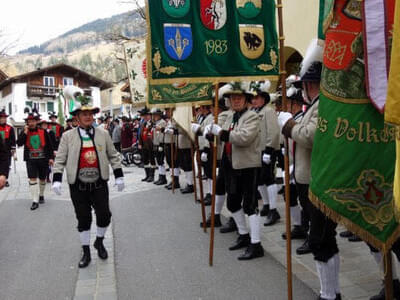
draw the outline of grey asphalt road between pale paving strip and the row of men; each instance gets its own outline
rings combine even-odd
[[[214,267],[209,236],[198,225],[193,197],[163,188],[112,202],[117,290],[125,299],[287,299],[286,271],[268,254],[241,262],[230,252],[235,234],[215,236]],[[294,280],[295,299],[315,299]]]

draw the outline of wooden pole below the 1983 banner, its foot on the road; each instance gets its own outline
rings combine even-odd
[[[214,105],[214,124],[218,124],[218,83],[215,83],[215,105]],[[211,197],[211,234],[210,234],[210,253],[209,264],[213,265],[214,259],[214,226],[215,226],[215,193],[217,190],[217,137],[214,136],[213,144],[213,191]]]

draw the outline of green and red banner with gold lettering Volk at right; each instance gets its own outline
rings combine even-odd
[[[366,94],[361,9],[357,0],[335,0],[325,32],[310,199],[385,251],[399,234],[392,190],[397,134]]]

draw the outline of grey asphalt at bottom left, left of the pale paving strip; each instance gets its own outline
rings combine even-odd
[[[71,204],[49,201],[0,204],[0,299],[72,299],[78,277],[79,238]]]

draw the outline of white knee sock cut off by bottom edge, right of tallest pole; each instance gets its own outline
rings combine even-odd
[[[334,300],[336,298],[335,259],[331,257],[326,263],[322,261],[316,261],[315,263],[321,285],[321,297],[328,300]]]

